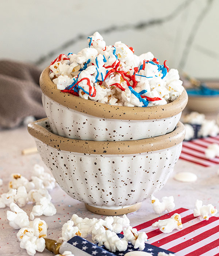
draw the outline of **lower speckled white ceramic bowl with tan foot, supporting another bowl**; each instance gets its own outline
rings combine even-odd
[[[99,214],[135,211],[160,190],[177,162],[184,125],[155,138],[99,142],[54,135],[47,118],[28,125],[39,154],[71,197]]]

